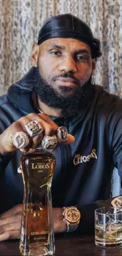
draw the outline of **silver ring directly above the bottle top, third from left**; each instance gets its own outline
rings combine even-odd
[[[44,135],[41,145],[44,150],[54,150],[57,147],[57,136]]]

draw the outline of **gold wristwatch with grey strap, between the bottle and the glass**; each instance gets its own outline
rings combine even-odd
[[[78,228],[81,215],[75,206],[64,207],[62,217],[63,221],[67,224],[66,232],[73,232]]]

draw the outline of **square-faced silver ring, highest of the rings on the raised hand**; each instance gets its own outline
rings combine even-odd
[[[25,124],[26,132],[30,137],[34,137],[35,135],[39,135],[43,132],[43,127],[36,120],[30,121]]]

